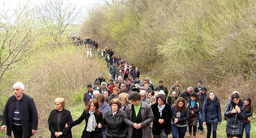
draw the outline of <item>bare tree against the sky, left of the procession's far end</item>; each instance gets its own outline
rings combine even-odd
[[[82,15],[81,8],[72,3],[64,3],[63,0],[46,1],[38,10],[39,17],[56,42],[65,33],[67,27]]]

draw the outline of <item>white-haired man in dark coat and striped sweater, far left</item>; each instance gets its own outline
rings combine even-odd
[[[7,135],[31,137],[37,131],[38,114],[33,98],[24,93],[25,86],[17,82],[13,85],[14,95],[10,96],[4,109],[1,129]]]

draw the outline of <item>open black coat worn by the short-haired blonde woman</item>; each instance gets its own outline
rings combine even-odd
[[[72,137],[71,127],[65,128],[66,123],[72,123],[72,116],[69,110],[63,109],[59,121],[60,131],[63,133],[59,137],[61,138],[69,138]],[[55,132],[57,132],[57,110],[54,109],[51,111],[50,116],[48,118],[49,130],[51,131],[51,138],[55,138]]]

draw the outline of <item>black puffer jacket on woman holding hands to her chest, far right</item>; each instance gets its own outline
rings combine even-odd
[[[232,109],[235,108],[236,104],[233,101],[227,105],[227,109],[225,111],[225,116],[228,117],[227,125],[226,125],[226,133],[231,135],[243,134],[244,130],[244,119],[246,118],[246,109],[244,102],[239,100],[238,106],[240,107],[240,113],[231,113]]]

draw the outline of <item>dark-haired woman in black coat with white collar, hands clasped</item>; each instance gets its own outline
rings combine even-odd
[[[172,132],[173,112],[169,104],[165,104],[166,97],[164,94],[156,96],[156,104],[151,105],[155,119],[153,121],[152,133],[154,137],[168,137]]]

